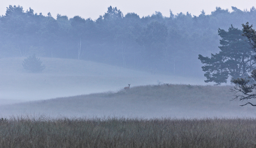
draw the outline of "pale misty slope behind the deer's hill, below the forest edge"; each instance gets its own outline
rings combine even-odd
[[[128,83],[131,86],[159,82],[204,84],[203,77],[152,75],[103,63],[61,58],[41,58],[45,70],[30,73],[23,69],[23,60],[0,59],[0,104],[118,91]]]

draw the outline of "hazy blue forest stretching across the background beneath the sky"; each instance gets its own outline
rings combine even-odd
[[[206,15],[189,12],[163,17],[161,12],[140,17],[123,14],[109,7],[96,20],[68,18],[49,12],[47,16],[32,8],[7,7],[0,16],[0,58],[72,58],[109,65],[180,76],[203,76],[198,55],[209,56],[219,50],[218,29],[242,29],[256,24],[256,9],[232,11],[216,7]]]

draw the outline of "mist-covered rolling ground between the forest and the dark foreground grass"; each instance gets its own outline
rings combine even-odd
[[[202,78],[157,75],[90,61],[41,58],[41,73],[24,58],[0,59],[0,116],[201,118],[255,117],[232,100],[233,86]],[[131,83],[130,90],[124,87]],[[169,85],[167,85],[169,83]],[[254,103],[254,102],[253,102]]]

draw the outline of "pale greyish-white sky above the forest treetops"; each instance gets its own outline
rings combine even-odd
[[[253,6],[256,7],[256,0],[0,0],[0,15],[4,15],[6,7],[9,5],[20,5],[24,11],[31,7],[35,13],[40,13],[47,16],[51,12],[52,16],[56,18],[57,14],[72,18],[74,16],[81,16],[82,18],[91,18],[93,20],[99,18],[107,12],[107,7],[117,7],[122,13],[135,12],[140,17],[148,16],[155,11],[159,11],[163,16],[170,16],[170,9],[174,14],[189,12],[191,15],[199,16],[204,9],[206,14],[210,14],[216,7],[222,9],[229,9],[231,6],[237,7],[242,11],[244,9],[250,10]]]

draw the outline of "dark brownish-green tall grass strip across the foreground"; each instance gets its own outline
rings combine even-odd
[[[255,147],[256,119],[12,117],[0,147]]]

